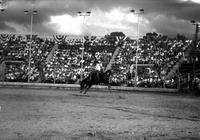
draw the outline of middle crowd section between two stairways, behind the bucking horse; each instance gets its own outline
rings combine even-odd
[[[59,44],[52,59],[46,65],[46,82],[76,83],[80,78],[81,71],[84,71],[83,77],[86,77],[94,68],[95,62],[102,63],[105,68],[115,48],[114,46],[108,47],[105,44],[94,44],[84,45],[83,70],[81,69],[83,44],[81,42]]]

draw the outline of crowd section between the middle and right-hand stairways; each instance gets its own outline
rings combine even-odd
[[[114,67],[118,73],[115,81],[123,82],[133,79],[134,74],[129,73],[131,65],[136,62],[136,52],[138,53],[138,64],[148,64],[138,67],[138,83],[141,86],[162,86],[166,74],[184,56],[191,45],[191,40],[182,38],[169,38],[157,33],[148,33],[139,40],[137,47],[136,40],[125,42],[119,55],[116,57]],[[152,65],[150,65],[152,64]],[[135,67],[134,67],[135,69]],[[131,75],[131,76],[130,76]],[[120,80],[123,79],[123,80]],[[128,81],[134,84],[134,81]],[[147,84],[149,83],[149,84]],[[153,84],[156,83],[156,84]],[[121,84],[121,83],[120,83]]]

